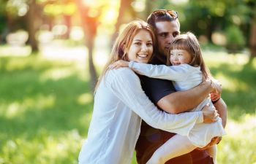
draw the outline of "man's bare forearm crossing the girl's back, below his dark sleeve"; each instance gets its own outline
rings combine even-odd
[[[190,90],[178,91],[166,95],[157,101],[157,106],[171,114],[187,112],[199,105],[213,89],[214,87],[211,85],[211,82],[202,82]]]

